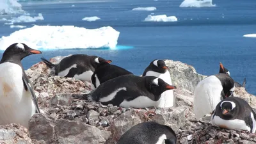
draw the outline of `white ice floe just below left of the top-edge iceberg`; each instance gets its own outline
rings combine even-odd
[[[148,15],[144,21],[146,22],[176,22],[178,19],[175,16],[167,17],[166,15]]]

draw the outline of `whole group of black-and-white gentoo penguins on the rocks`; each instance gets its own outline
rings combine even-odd
[[[28,128],[28,121],[40,113],[33,86],[21,60],[42,52],[26,44],[15,43],[3,53],[0,61],[0,125],[17,123]],[[163,60],[153,60],[143,75],[135,76],[122,67],[111,65],[111,60],[99,56],[74,54],[53,64],[41,58],[56,76],[74,77],[92,81],[95,90],[89,94],[73,95],[78,99],[94,100],[123,108],[169,108],[175,106],[175,95],[168,67]],[[219,74],[200,81],[194,92],[195,118],[211,115],[211,122],[225,129],[242,129],[255,133],[256,116],[250,105],[234,97],[236,87],[245,86],[230,77],[230,72],[220,63]],[[118,144],[126,143],[176,143],[177,136],[171,127],[156,122],[143,122],[125,132]]]

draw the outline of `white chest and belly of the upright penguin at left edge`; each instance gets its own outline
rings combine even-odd
[[[30,93],[24,89],[22,68],[14,63],[0,65],[0,124],[10,122],[28,126],[35,113]]]

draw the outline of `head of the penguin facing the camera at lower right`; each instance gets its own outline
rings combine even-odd
[[[237,111],[235,102],[229,100],[224,100],[223,102],[221,102],[220,109],[221,115],[227,118],[232,118],[232,115],[234,115],[234,113],[236,113]]]

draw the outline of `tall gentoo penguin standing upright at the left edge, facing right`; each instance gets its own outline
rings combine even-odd
[[[31,54],[41,54],[23,43],[10,45],[0,61],[0,125],[17,123],[28,128],[36,111],[40,113],[33,86],[21,60]],[[32,98],[32,99],[31,99]]]

